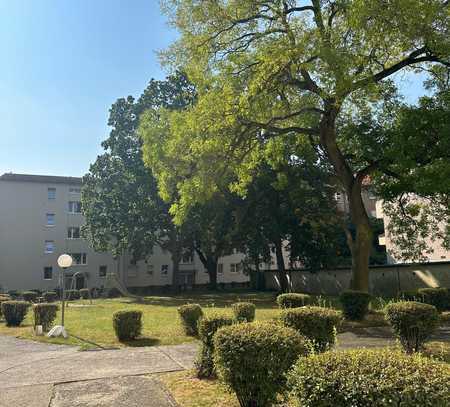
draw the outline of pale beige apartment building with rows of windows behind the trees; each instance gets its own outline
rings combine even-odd
[[[0,176],[0,290],[48,290],[59,286],[57,258],[69,253],[74,264],[66,285],[103,287],[114,272],[127,287],[159,287],[172,282],[170,254],[155,248],[145,261],[131,264],[129,256],[114,259],[95,252],[80,237],[81,178],[7,173]],[[219,261],[219,283],[243,283],[243,255]],[[184,259],[182,282],[207,284],[208,274],[197,256]],[[71,276],[75,275],[72,279]]]

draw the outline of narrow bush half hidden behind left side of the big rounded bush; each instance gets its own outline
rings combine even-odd
[[[198,333],[200,335],[201,347],[198,358],[195,362],[197,377],[214,377],[214,334],[223,326],[232,325],[233,319],[221,316],[210,315],[200,318],[198,322]]]

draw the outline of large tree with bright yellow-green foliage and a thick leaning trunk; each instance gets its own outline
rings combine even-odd
[[[361,190],[369,175],[389,176],[392,162],[383,154],[349,158],[338,122],[380,100],[396,73],[449,66],[449,2],[163,3],[180,32],[166,60],[181,65],[198,92],[195,105],[165,117],[170,152],[178,161],[172,174],[162,169],[157,177],[164,193],[173,187],[174,173],[184,175],[172,205],[176,220],[215,193],[224,169],[238,178],[230,188],[245,194],[253,169],[276,147],[274,140],[305,139],[332,165],[348,196],[351,286],[367,291],[372,230]]]

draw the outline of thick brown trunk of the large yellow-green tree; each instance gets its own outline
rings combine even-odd
[[[368,292],[372,230],[361,197],[361,185],[367,173],[361,171],[355,174],[336,143],[336,117],[339,108],[334,100],[326,102],[325,113],[320,123],[320,142],[345,188],[350,204],[350,218],[355,227],[354,235],[347,238],[352,254],[350,288]]]

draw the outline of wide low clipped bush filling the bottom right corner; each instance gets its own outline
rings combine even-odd
[[[450,405],[450,365],[388,349],[300,358],[288,385],[302,407]]]

